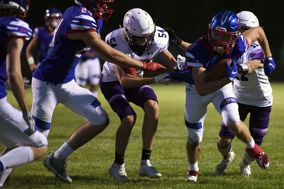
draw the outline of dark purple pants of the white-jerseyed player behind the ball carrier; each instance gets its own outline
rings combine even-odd
[[[259,107],[241,103],[238,103],[238,106],[239,115],[242,121],[245,121],[248,113],[250,113],[250,134],[254,139],[255,143],[260,146],[268,128],[271,106]],[[235,137],[235,134],[231,130],[229,130],[229,128],[227,128],[224,122],[222,121],[219,136],[233,139]]]

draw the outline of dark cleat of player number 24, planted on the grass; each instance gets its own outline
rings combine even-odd
[[[65,168],[67,164],[64,160],[60,160],[54,157],[54,153],[49,152],[49,156],[43,160],[43,165],[51,172],[55,174],[59,178],[60,181],[71,183],[72,179],[69,177]]]

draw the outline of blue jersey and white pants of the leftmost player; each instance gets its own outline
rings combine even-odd
[[[6,71],[6,48],[11,38],[29,40],[32,36],[30,25],[23,20],[12,16],[0,17],[0,141],[7,147],[16,147],[18,144],[45,147],[47,139],[36,130],[26,135],[29,129],[23,118],[22,111],[12,107],[7,101],[5,83]]]

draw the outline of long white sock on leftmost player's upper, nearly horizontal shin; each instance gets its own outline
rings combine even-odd
[[[12,149],[0,157],[4,169],[17,167],[34,161],[34,152],[29,146]]]

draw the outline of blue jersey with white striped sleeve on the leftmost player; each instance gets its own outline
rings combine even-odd
[[[9,40],[20,37],[24,41],[32,36],[30,25],[14,16],[0,17],[0,98],[7,95],[5,83],[7,81],[6,71],[6,48]],[[22,52],[21,52],[22,53]]]

